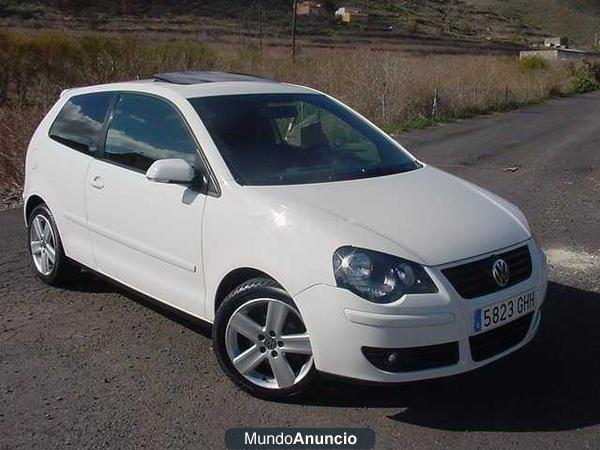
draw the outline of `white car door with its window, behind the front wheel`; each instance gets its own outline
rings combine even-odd
[[[102,157],[88,171],[86,204],[96,269],[202,317],[202,214],[191,185],[153,182],[159,159],[183,158],[203,172],[198,144],[179,110],[155,96],[119,94]]]

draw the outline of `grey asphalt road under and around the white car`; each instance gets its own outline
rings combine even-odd
[[[438,381],[257,400],[221,374],[202,324],[89,275],[44,286],[12,210],[0,213],[0,447],[220,448],[230,427],[368,426],[378,448],[598,448],[600,94],[400,140],[529,217],[552,263],[530,346]]]

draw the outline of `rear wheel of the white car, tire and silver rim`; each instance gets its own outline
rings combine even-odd
[[[40,236],[40,227],[43,237]],[[54,216],[45,204],[36,206],[29,214],[27,237],[31,265],[44,283],[51,286],[63,285],[77,271],[65,255]]]

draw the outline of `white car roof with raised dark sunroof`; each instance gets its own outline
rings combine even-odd
[[[270,78],[232,72],[186,71],[155,75],[152,79],[108,83],[68,89],[69,95],[101,91],[139,91],[165,95],[174,92],[185,98],[235,94],[315,93],[304,86]]]

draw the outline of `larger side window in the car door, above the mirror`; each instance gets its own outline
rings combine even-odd
[[[197,156],[196,141],[173,106],[147,95],[119,96],[106,136],[106,159],[145,172],[166,158],[196,166]]]

